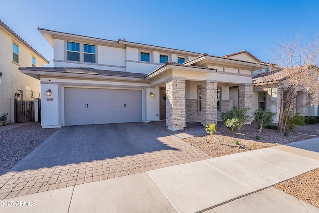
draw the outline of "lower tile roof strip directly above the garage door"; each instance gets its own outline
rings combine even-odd
[[[101,70],[94,68],[71,68],[71,67],[20,67],[19,70],[28,71],[44,71],[44,72],[60,72],[60,73],[75,73],[75,74],[87,74],[87,75],[104,75],[104,76],[118,76],[118,77],[132,77],[132,78],[145,78],[147,74]]]

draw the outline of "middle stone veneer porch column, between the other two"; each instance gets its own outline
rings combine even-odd
[[[217,124],[217,82],[201,83],[201,124]]]

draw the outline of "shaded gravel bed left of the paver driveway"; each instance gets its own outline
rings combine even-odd
[[[36,122],[0,132],[0,176],[57,130],[42,129]]]

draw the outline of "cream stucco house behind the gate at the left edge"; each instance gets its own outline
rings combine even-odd
[[[19,67],[42,67],[48,64],[40,53],[0,20],[0,116],[14,123],[14,101],[40,98],[38,79],[19,71]]]

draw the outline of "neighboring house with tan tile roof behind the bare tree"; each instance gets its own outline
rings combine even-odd
[[[295,69],[296,72],[300,70],[299,67]],[[282,92],[279,86],[287,83],[287,73],[287,69],[279,69],[277,67],[272,72],[260,73],[253,77],[253,110],[262,108],[277,112],[275,120],[278,120]],[[311,105],[311,97],[307,94],[303,85],[297,87],[291,110],[299,112],[300,115],[317,116],[317,108],[317,105]]]

